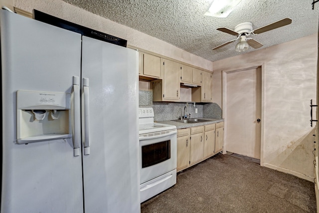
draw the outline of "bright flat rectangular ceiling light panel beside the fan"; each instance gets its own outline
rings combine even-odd
[[[213,0],[204,15],[227,17],[241,0]]]

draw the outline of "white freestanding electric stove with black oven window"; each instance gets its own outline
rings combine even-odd
[[[154,123],[153,108],[139,108],[141,203],[176,184],[177,130]]]

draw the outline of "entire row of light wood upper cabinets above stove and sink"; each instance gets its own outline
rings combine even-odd
[[[152,82],[153,101],[212,102],[212,72],[146,52],[139,52],[139,77]]]

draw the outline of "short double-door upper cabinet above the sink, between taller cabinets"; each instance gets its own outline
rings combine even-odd
[[[202,71],[190,66],[181,65],[180,82],[201,86]]]

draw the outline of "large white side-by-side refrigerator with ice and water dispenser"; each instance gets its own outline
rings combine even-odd
[[[138,52],[1,10],[1,213],[139,213]]]

